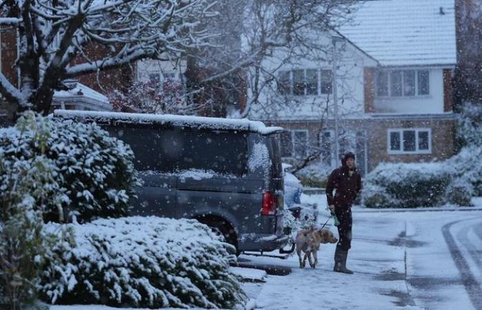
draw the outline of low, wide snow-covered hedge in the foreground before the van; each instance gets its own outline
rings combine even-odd
[[[229,272],[229,245],[195,220],[129,217],[67,226],[74,245],[57,244],[61,263],[43,274],[48,302],[231,309],[247,301]]]

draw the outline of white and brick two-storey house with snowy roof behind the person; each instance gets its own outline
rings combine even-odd
[[[263,94],[270,109],[253,107],[249,115],[287,129],[281,141],[286,161],[319,152],[315,164],[339,165],[335,127],[339,154],[354,152],[362,173],[381,162],[452,156],[454,0],[366,1],[353,21],[319,37],[331,56],[282,65],[275,91]],[[271,59],[266,65],[279,64]]]

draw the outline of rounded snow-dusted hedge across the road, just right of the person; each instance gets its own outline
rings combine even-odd
[[[367,207],[470,205],[472,185],[441,163],[382,163],[364,180]]]

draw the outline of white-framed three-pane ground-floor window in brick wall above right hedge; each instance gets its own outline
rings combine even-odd
[[[430,154],[430,129],[388,130],[389,154]]]

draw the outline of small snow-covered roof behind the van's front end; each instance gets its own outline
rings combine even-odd
[[[72,86],[72,89],[54,92],[54,103],[82,105],[89,108],[89,110],[112,110],[112,107],[109,105],[109,99],[100,92],[96,92],[92,88],[76,81],[67,82],[67,85]]]

